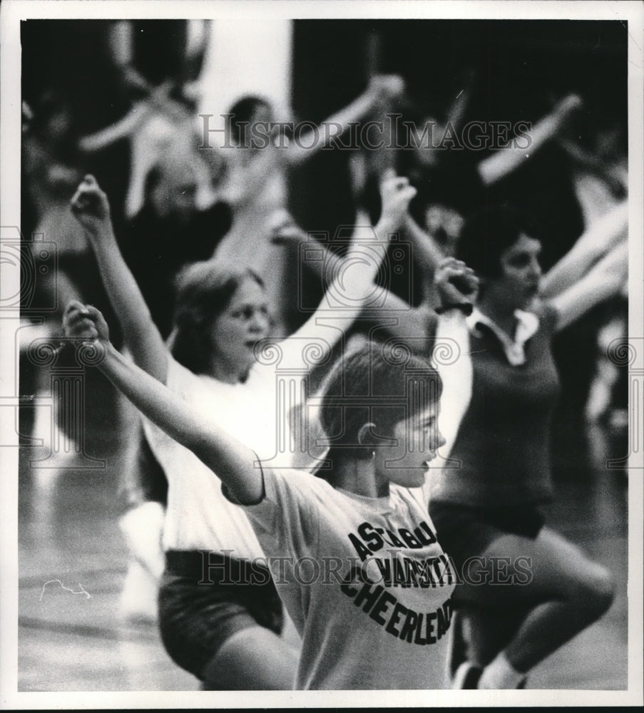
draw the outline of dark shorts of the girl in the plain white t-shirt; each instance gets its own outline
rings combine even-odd
[[[270,571],[208,553],[170,551],[159,591],[159,625],[168,655],[203,679],[203,672],[230,636],[261,626],[279,635],[284,616]]]

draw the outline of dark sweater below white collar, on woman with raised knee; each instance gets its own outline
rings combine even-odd
[[[526,317],[529,324],[533,315]],[[450,467],[432,488],[433,501],[504,508],[551,500],[550,423],[559,392],[551,353],[556,319],[551,307],[541,310],[523,347],[526,361],[513,366],[494,329],[472,315],[472,397]]]

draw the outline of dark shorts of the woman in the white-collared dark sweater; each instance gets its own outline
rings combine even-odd
[[[429,501],[429,516],[441,548],[459,572],[466,560],[482,555],[503,535],[536,539],[545,521],[535,506],[473,508],[435,501]]]

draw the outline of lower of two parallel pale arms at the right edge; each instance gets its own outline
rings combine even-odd
[[[557,329],[564,329],[605,299],[614,297],[628,279],[628,242],[620,242],[584,277],[550,304],[558,312]]]

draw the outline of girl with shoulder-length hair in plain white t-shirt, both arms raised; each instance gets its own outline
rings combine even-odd
[[[404,178],[384,181],[382,217],[375,228],[381,252],[414,193]],[[343,276],[349,292],[342,284],[329,289],[323,316],[334,318],[331,327],[319,326],[320,314],[314,314],[273,347],[272,354],[281,355],[280,368],[292,376],[282,393],[277,366],[256,359],[255,347],[272,334],[262,280],[252,270],[217,262],[190,267],[179,284],[168,352],[118,251],[107,198],[91,176],[71,207],[86,228],[136,364],[262,458],[277,456],[274,464],[290,465],[282,445],[290,437],[281,415],[285,402],[295,406],[302,399],[307,368],[324,361],[359,313],[372,292],[377,261],[354,261]],[[379,250],[373,242],[370,247]],[[343,295],[339,302],[337,294]],[[245,561],[263,556],[248,518],[222,496],[220,481],[199,458],[150,424],[145,432],[168,478],[159,611],[168,653],[206,689],[292,688],[297,652],[280,638],[282,609],[275,585],[259,565],[259,580],[255,570],[252,578],[245,570]]]

